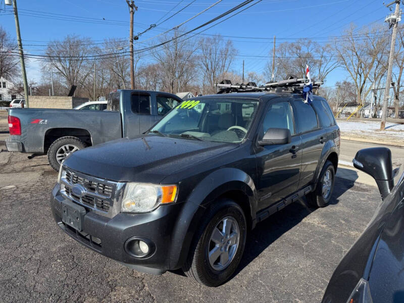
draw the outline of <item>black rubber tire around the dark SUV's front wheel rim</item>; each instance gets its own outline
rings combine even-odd
[[[194,240],[189,248],[188,258],[182,270],[188,277],[194,279],[200,284],[207,286],[219,286],[226,282],[234,274],[238,265],[240,264],[247,235],[246,220],[242,209],[230,199],[221,199],[216,201],[216,203],[211,207],[207,215],[204,217],[204,221],[200,224],[200,227],[195,232]],[[238,245],[233,248],[233,251],[235,252],[232,259],[229,259],[230,263],[227,265],[227,267],[223,268],[223,270],[217,270],[210,264],[208,251],[210,250],[210,247],[212,247],[210,245],[212,245],[211,236],[213,231],[216,229],[218,224],[223,222],[223,220],[228,220],[226,218],[231,218],[231,220],[234,219],[238,224]],[[223,236],[223,239],[224,238],[225,236]],[[213,247],[215,248],[218,245],[231,245],[226,244],[226,241],[227,240],[222,242],[222,244],[215,244]],[[227,243],[230,243],[230,240]],[[227,246],[225,251],[227,251],[228,256],[230,256],[231,250],[232,248],[230,247],[229,249],[229,246]],[[221,257],[219,257],[217,260],[219,259],[222,260]]]

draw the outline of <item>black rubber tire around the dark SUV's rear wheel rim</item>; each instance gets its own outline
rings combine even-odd
[[[329,172],[331,176],[331,188],[330,192],[328,195],[323,194],[323,185],[327,182],[324,178],[326,176],[327,172]],[[324,163],[324,166],[321,170],[319,180],[317,181],[317,186],[316,189],[313,192],[310,192],[309,194],[306,195],[307,201],[311,206],[314,207],[325,207],[330,203],[332,193],[334,191],[334,180],[335,180],[335,170],[334,170],[334,165],[331,163],[331,161],[327,160]]]

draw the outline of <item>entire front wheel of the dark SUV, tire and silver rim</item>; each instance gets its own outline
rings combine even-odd
[[[245,246],[246,220],[234,201],[215,203],[191,244],[184,273],[198,283],[219,286],[237,269]]]

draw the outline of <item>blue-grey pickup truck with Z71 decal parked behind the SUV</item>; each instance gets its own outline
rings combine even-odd
[[[48,156],[59,170],[71,153],[87,146],[145,132],[182,99],[144,90],[110,93],[105,111],[9,109],[9,151]]]

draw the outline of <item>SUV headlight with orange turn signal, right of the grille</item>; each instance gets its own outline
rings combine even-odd
[[[177,185],[154,185],[126,183],[121,212],[147,213],[161,204],[173,203],[177,196]]]

